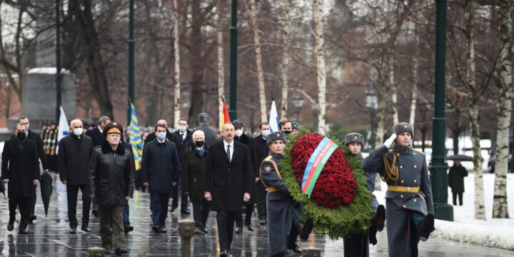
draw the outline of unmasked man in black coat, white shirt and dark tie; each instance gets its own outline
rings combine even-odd
[[[207,152],[203,195],[216,211],[220,256],[232,256],[234,216],[243,211],[243,201],[250,200],[253,174],[248,148],[233,140],[234,126],[227,123],[222,131],[223,141],[213,143]]]

